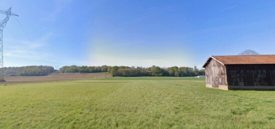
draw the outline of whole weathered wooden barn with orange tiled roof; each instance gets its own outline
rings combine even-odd
[[[275,55],[210,56],[206,87],[222,90],[275,90]]]

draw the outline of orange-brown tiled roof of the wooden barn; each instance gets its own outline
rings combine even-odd
[[[205,68],[210,60],[216,60],[222,65],[230,64],[275,64],[275,55],[237,55],[237,56],[210,56],[204,65]]]

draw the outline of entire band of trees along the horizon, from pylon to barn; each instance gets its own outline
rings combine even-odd
[[[49,73],[98,73],[108,72],[112,76],[138,77],[138,76],[170,76],[170,77],[190,77],[204,75],[204,69],[191,67],[128,67],[128,66],[63,66],[59,70],[54,70],[52,66],[22,66],[4,67],[4,73],[11,76],[46,76]]]

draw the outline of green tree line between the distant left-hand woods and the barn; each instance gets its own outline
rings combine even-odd
[[[128,67],[128,66],[63,66],[59,69],[60,73],[97,73],[108,72],[112,76],[138,77],[138,76],[171,76],[171,77],[190,77],[204,75],[204,69],[191,67]]]

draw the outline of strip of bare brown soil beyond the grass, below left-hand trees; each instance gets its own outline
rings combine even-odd
[[[30,83],[30,82],[52,82],[52,81],[63,81],[63,80],[81,80],[89,78],[110,78],[111,75],[108,73],[58,73],[49,74],[48,76],[8,76],[5,75],[5,82],[0,84],[11,84],[11,83]]]

